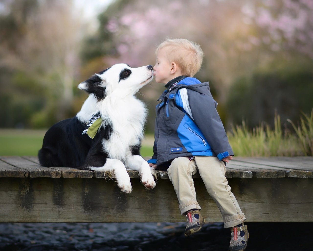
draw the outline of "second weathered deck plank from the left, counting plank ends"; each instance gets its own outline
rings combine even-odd
[[[12,166],[28,171],[29,177],[31,178],[40,178],[40,177],[60,178],[61,177],[61,172],[56,171],[51,168],[42,167],[36,163],[33,163],[19,156],[0,157],[0,159]]]

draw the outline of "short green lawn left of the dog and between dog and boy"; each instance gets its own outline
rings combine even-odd
[[[46,130],[0,129],[0,156],[35,156],[42,147]],[[151,157],[153,136],[146,136],[141,147],[143,157]],[[152,143],[151,143],[152,141]]]

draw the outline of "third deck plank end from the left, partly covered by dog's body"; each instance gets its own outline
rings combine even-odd
[[[37,156],[24,156],[23,158],[39,164]],[[92,171],[79,170],[70,167],[49,167],[49,169],[60,172],[62,178],[92,178],[94,176],[94,173]]]

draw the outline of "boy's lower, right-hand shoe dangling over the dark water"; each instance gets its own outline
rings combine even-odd
[[[244,224],[239,226],[230,229],[231,237],[228,251],[244,251],[247,248],[249,238],[248,227]]]

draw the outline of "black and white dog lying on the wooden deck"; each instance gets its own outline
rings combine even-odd
[[[90,95],[75,117],[46,132],[38,152],[40,164],[109,171],[121,191],[131,193],[127,167],[139,171],[147,189],[154,188],[153,170],[139,155],[147,112],[134,96],[152,78],[151,65],[131,68],[116,64],[80,83],[78,88]],[[85,132],[96,121],[99,128],[89,136]]]

